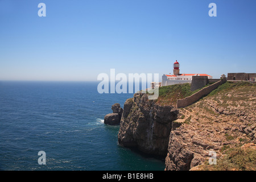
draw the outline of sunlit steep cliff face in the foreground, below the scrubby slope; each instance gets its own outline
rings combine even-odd
[[[209,150],[219,149],[218,145],[205,140],[205,136],[198,134],[194,127],[174,122],[168,143],[166,169],[170,171],[188,171],[203,163]]]

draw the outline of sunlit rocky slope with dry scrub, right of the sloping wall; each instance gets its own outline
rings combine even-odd
[[[187,130],[212,144],[217,152],[217,165],[205,160],[194,170],[256,169],[255,100],[255,84],[226,82],[207,97],[180,109],[179,118]]]

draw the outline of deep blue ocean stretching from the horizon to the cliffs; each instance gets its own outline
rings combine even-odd
[[[163,159],[119,146],[119,126],[104,124],[133,94],[100,94],[97,85],[0,81],[0,170],[163,171]]]

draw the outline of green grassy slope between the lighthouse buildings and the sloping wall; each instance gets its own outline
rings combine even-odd
[[[200,88],[191,92],[190,86],[191,84],[188,83],[161,86],[159,88],[159,97],[156,103],[159,105],[176,105],[177,100],[191,96],[192,94],[198,92],[200,89],[203,89]]]

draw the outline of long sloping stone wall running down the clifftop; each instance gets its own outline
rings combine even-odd
[[[207,94],[212,92],[212,90],[216,89],[219,85],[222,85],[225,82],[226,82],[226,78],[199,90],[199,92],[193,94],[192,96],[177,100],[177,107],[178,108],[179,107],[187,107],[187,106],[193,104],[194,102],[200,100],[201,97],[207,96]]]

